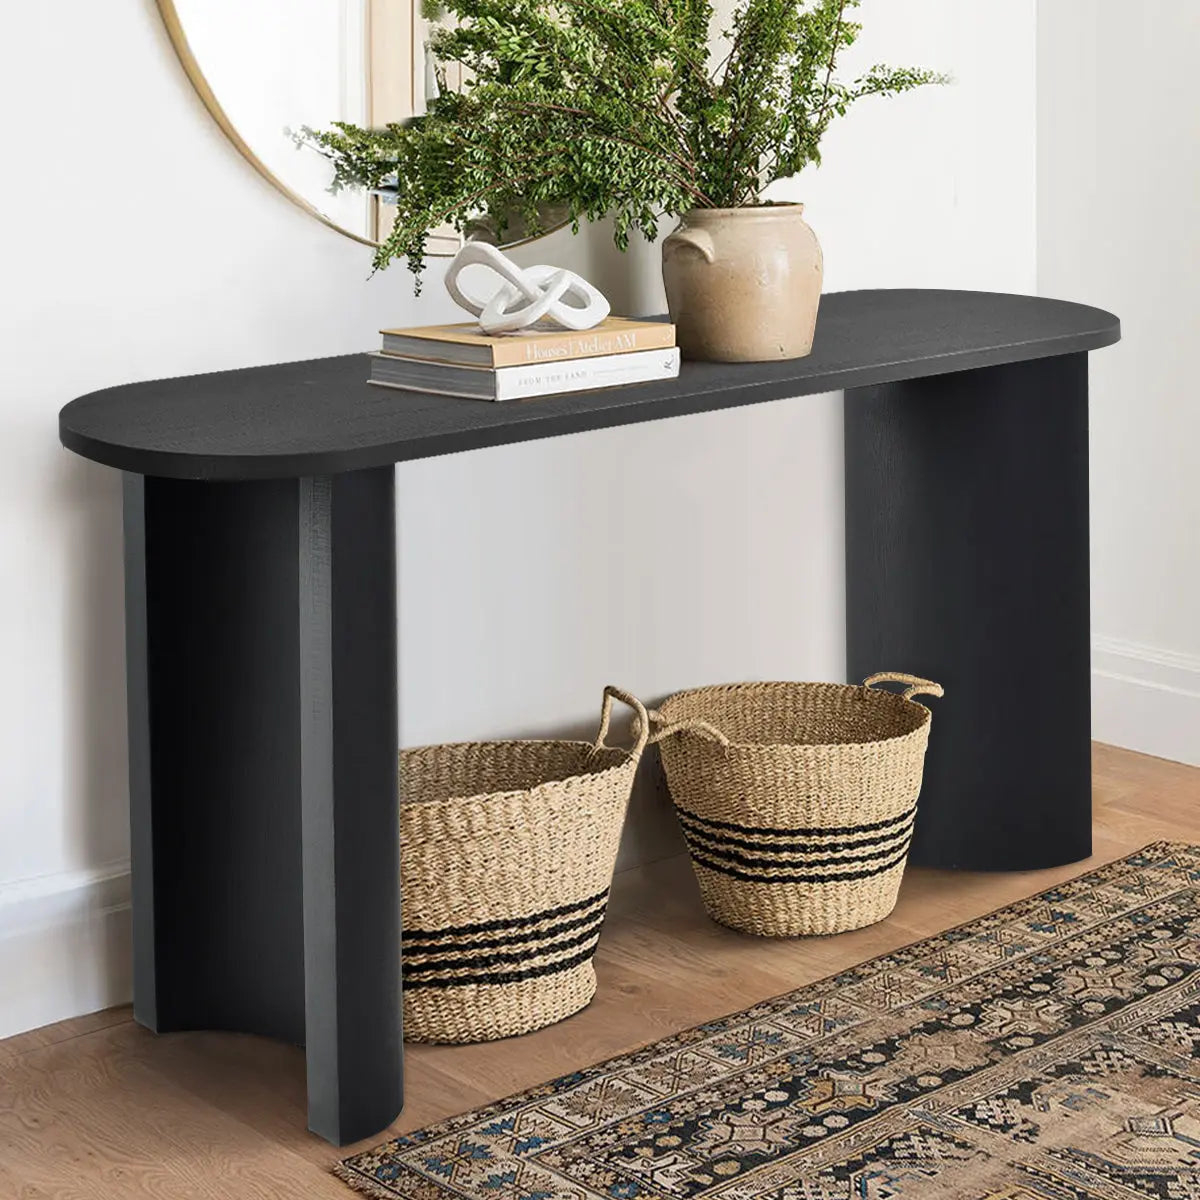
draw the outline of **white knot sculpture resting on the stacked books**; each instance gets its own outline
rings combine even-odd
[[[458,283],[467,266],[490,268],[502,280],[488,300],[469,295]],[[608,301],[583,276],[563,266],[517,266],[486,241],[468,241],[446,271],[455,304],[479,318],[485,334],[511,334],[536,322],[563,329],[592,329],[608,316]]]

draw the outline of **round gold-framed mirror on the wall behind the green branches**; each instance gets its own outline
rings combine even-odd
[[[157,0],[179,59],[248,162],[293,203],[358,241],[391,223],[385,192],[331,193],[331,164],[293,137],[334,121],[384,125],[424,112],[421,0]],[[448,85],[458,80],[452,76]],[[449,227],[430,252],[452,254]]]

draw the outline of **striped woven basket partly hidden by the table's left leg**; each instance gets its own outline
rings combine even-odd
[[[612,702],[631,750],[605,744]],[[488,1042],[577,1013],[649,720],[606,688],[588,742],[485,742],[400,756],[404,1037]]]

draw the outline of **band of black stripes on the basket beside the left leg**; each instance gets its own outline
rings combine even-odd
[[[440,930],[406,929],[404,988],[520,983],[570,971],[595,953],[607,904],[605,888],[586,900],[523,917]]]

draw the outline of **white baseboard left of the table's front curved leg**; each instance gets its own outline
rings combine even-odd
[[[132,992],[128,863],[0,884],[0,1038]]]

